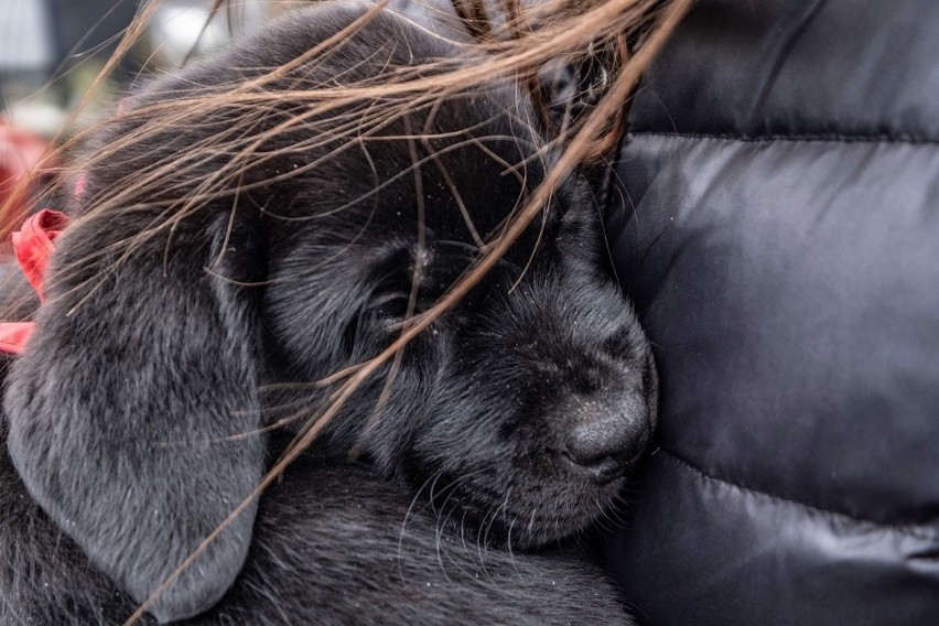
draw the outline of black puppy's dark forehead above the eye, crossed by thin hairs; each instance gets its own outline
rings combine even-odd
[[[422,224],[472,242],[492,234],[543,180],[539,143],[527,123],[487,101],[445,101],[277,186],[269,204],[278,207],[271,213],[328,222],[322,236],[338,228],[410,238]]]

